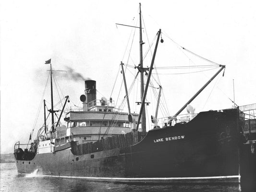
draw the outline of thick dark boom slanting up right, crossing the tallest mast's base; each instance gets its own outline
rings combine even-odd
[[[143,111],[143,109],[145,109],[144,106],[145,106],[146,92],[147,92],[147,89],[148,89],[150,76],[151,76],[151,73],[152,73],[152,70],[153,70],[153,65],[154,65],[154,62],[155,62],[155,57],[156,57],[156,53],[157,53],[157,49],[158,49],[158,42],[159,42],[160,34],[161,34],[161,29],[159,29],[159,31],[158,31],[158,38],[157,38],[157,42],[156,42],[156,47],[155,47],[155,50],[154,50],[154,53],[153,53],[153,58],[152,58],[151,65],[150,65],[150,68],[149,68],[149,72],[148,72],[148,75],[147,75],[146,87],[145,87],[145,92],[143,94],[143,98],[142,98],[142,101],[141,101],[141,107],[140,107],[140,113],[139,113],[139,117],[138,117],[138,123],[137,123],[136,131],[138,131],[138,128],[139,128],[139,122],[140,122],[140,118],[142,117],[142,111]],[[146,132],[146,130],[145,130],[145,132]]]

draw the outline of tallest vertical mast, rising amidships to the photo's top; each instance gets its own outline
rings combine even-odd
[[[141,24],[141,3],[140,3],[140,97],[141,97],[141,105],[144,95],[144,69],[143,69],[143,41],[142,41],[142,24]],[[144,105],[144,104],[143,104]],[[146,132],[146,112],[144,106],[142,107],[142,117],[141,117],[141,128],[142,132]],[[139,121],[138,121],[139,122]]]

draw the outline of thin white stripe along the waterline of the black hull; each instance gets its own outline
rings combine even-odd
[[[29,175],[27,173],[19,173],[24,175]],[[89,179],[89,180],[209,180],[209,179],[228,179],[228,178],[238,178],[240,180],[240,175],[231,176],[213,176],[213,177],[170,177],[170,178],[114,178],[114,177],[74,177],[74,176],[56,176],[56,175],[40,175],[44,177],[61,177],[61,178],[79,178],[79,179]]]

